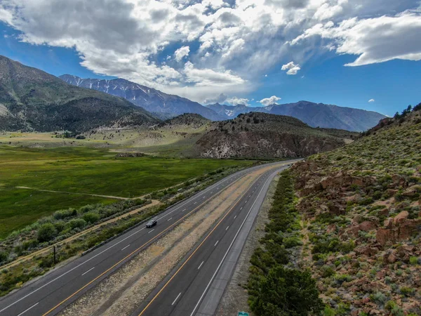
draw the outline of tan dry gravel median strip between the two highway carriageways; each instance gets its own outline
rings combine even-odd
[[[131,315],[139,302],[146,298],[268,168],[237,180],[171,232],[140,251],[133,260],[69,305],[61,315]]]

